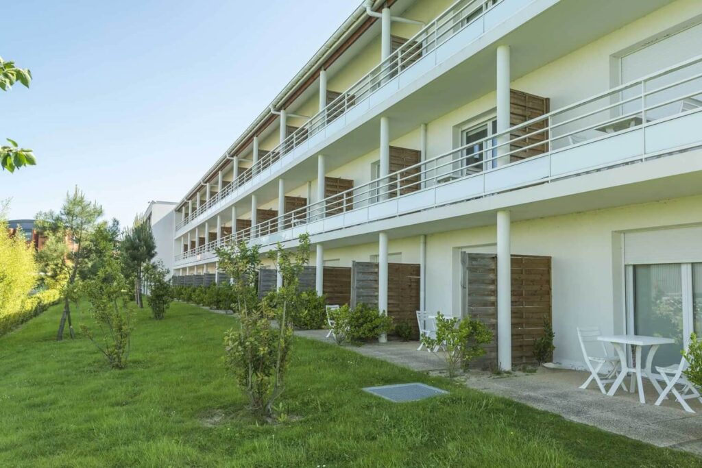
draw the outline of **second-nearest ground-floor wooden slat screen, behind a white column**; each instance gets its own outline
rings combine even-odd
[[[353,262],[351,272],[351,304],[364,303],[378,307],[378,264]],[[388,264],[388,315],[395,323],[407,321],[412,339],[419,338],[416,312],[419,309],[419,265]]]

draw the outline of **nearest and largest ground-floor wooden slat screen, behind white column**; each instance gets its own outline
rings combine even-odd
[[[461,253],[463,315],[478,319],[494,335],[486,354],[473,366],[497,367],[497,257]],[[551,321],[551,258],[512,255],[512,366],[534,366],[534,340]]]

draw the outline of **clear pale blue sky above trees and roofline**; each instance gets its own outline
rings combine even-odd
[[[180,200],[359,5],[356,0],[4,2],[0,138],[38,166],[0,172],[10,218],[78,185],[107,218]]]

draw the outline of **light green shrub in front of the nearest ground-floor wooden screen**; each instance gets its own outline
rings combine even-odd
[[[432,352],[438,347],[444,347],[444,359],[449,370],[449,377],[456,375],[458,366],[467,369],[470,361],[485,354],[480,345],[485,345],[492,340],[492,333],[480,321],[471,319],[446,319],[441,312],[437,312],[436,338],[423,335],[421,341]]]

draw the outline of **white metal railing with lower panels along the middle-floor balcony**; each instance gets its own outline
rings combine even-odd
[[[231,242],[261,241],[263,236],[269,238],[267,243],[274,243],[280,239],[271,234],[392,201],[411,203],[406,203],[404,211],[398,204],[390,215],[383,215],[385,218],[620,166],[682,145],[702,145],[698,127],[681,132],[683,121],[678,120],[702,116],[701,112],[702,55],[235,232],[176,260]],[[671,123],[678,126],[677,131],[660,130],[660,125]],[[653,132],[656,126],[658,133]],[[680,133],[684,134],[682,140],[673,135]],[[627,140],[612,146],[615,138]],[[439,199],[439,191],[452,191],[453,199]],[[369,220],[373,219],[358,218],[341,227]],[[338,225],[333,229],[339,229]]]

